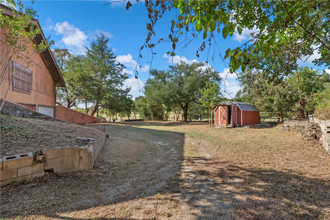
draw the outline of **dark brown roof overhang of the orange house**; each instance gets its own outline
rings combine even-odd
[[[12,12],[12,9],[10,7],[1,4],[1,9],[3,9],[5,11],[6,15],[13,16],[13,12]],[[32,41],[35,45],[39,45],[42,42],[42,40],[46,40],[46,38],[45,38],[45,35],[44,35],[44,33],[41,29],[41,26],[40,26],[40,23],[39,23],[38,19],[33,18],[31,20],[31,23],[32,22],[37,24],[40,28],[40,34],[38,34],[34,39],[32,39]],[[55,61],[55,58],[54,58],[53,53],[51,52],[50,48],[47,47],[47,49],[44,50],[40,54],[40,56],[43,59],[47,69],[49,70],[49,73],[50,73],[51,77],[54,79],[55,86],[65,87],[65,82],[64,82],[63,76],[62,76],[62,74],[61,74],[61,72],[60,72],[60,70],[57,66],[57,63]]]

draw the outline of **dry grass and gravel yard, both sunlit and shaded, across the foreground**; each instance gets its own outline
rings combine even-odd
[[[330,219],[330,159],[299,133],[104,125],[94,170],[1,187],[1,218]]]

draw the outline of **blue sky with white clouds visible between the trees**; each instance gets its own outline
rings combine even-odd
[[[54,48],[67,48],[70,52],[78,55],[84,54],[85,47],[95,39],[95,35],[100,32],[105,34],[109,39],[109,47],[117,56],[117,60],[126,66],[125,71],[130,73],[130,79],[125,81],[126,86],[131,86],[131,94],[136,97],[143,95],[141,92],[143,82],[149,77],[150,65],[152,68],[166,69],[172,65],[172,57],[166,52],[172,49],[170,43],[158,44],[154,47],[156,53],[151,62],[151,50],[143,49],[140,59],[141,69],[138,69],[138,77],[134,78],[135,66],[138,61],[139,48],[143,46],[147,37],[146,24],[149,23],[148,12],[144,5],[144,1],[136,2],[132,0],[133,6],[127,11],[125,2],[111,3],[112,1],[39,1],[34,2],[33,8],[37,11],[38,20],[41,24],[45,36],[51,35],[51,39],[55,41]],[[31,4],[27,2],[27,4]],[[171,27],[171,20],[177,16],[175,9],[166,12],[155,25],[154,42],[158,42],[160,38],[168,38]],[[241,46],[249,39],[249,30],[243,30],[241,36],[238,33],[226,40],[220,35],[215,35],[220,53],[224,55],[227,48],[236,48]],[[187,48],[180,50],[178,47],[173,57],[173,62],[183,60],[191,63],[193,61],[207,61],[208,47],[200,52],[200,57],[196,57],[196,50],[202,44],[203,40],[193,41]],[[215,51],[215,60],[211,60],[213,54],[213,46],[210,50],[208,58],[209,65],[217,70],[224,82],[221,83],[222,90],[226,90],[225,97],[234,97],[239,90],[239,82],[236,81],[235,74],[228,74],[225,63],[218,56],[219,51]],[[312,60],[318,57],[317,52],[308,60],[308,63],[301,65],[313,66]],[[321,69],[314,67],[315,69]],[[139,84],[138,84],[139,82]],[[139,92],[140,86],[140,92]],[[229,94],[228,94],[229,93]]]

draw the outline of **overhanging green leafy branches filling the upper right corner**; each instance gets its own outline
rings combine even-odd
[[[330,64],[330,4],[327,1],[145,1],[148,11],[148,35],[144,47],[152,48],[158,43],[172,43],[174,56],[178,45],[187,47],[194,38],[203,38],[196,56],[206,49],[218,48],[219,37],[232,37],[234,33],[249,35],[251,38],[240,47],[228,48],[221,59],[228,64],[230,72],[247,67],[271,70],[271,77],[287,76],[288,72],[278,70],[273,61],[289,63],[281,65],[294,70],[297,59],[306,61],[314,50],[320,58],[313,60],[316,65]],[[131,7],[129,2],[126,9]],[[133,6],[134,7],[134,6]],[[154,26],[157,20],[171,9],[178,14],[169,23],[168,37],[160,36],[154,41]],[[159,39],[159,40],[158,40]],[[210,49],[209,49],[210,51]],[[212,50],[211,50],[212,51]],[[218,51],[221,52],[221,51]],[[212,60],[215,58],[214,52]],[[142,58],[142,57],[141,57]],[[260,64],[261,62],[261,65]]]

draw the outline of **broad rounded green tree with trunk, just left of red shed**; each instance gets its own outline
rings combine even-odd
[[[220,83],[222,80],[218,72],[203,62],[188,64],[181,61],[169,66],[168,70],[153,69],[150,75],[152,78],[147,79],[144,87],[147,101],[152,100],[150,103],[158,107],[180,106],[184,120],[187,120],[189,104],[200,104],[207,82]]]

